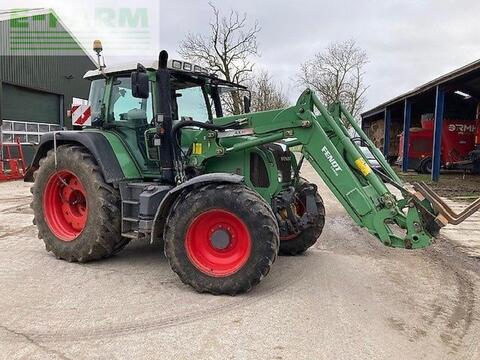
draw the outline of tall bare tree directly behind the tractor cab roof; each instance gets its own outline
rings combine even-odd
[[[251,58],[258,55],[258,22],[247,24],[247,14],[240,15],[230,11],[228,16],[221,15],[210,3],[213,20],[207,35],[188,33],[180,44],[179,53],[187,60],[203,65],[225,80],[243,83],[253,69]],[[239,114],[242,111],[241,96],[230,93],[227,101],[228,112]]]

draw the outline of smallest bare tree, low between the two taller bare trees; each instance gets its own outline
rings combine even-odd
[[[266,70],[253,74],[248,81],[252,92],[252,111],[266,111],[288,106],[288,99],[280,85]]]

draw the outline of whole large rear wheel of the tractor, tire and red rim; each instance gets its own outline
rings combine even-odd
[[[86,262],[125,247],[120,195],[105,183],[90,153],[63,145],[49,151],[35,172],[32,208],[38,237],[59,259]]]

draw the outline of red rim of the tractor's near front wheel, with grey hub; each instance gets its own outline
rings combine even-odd
[[[208,210],[190,224],[185,248],[192,264],[203,273],[225,277],[240,270],[252,247],[250,232],[235,214],[221,209]]]

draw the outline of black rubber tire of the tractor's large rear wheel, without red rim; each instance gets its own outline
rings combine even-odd
[[[43,206],[47,184],[52,181],[54,174],[61,171],[68,171],[81,182],[88,204],[83,230],[69,241],[60,239],[52,232]],[[119,252],[128,244],[129,239],[121,236],[119,192],[105,182],[95,159],[85,148],[76,145],[59,146],[57,168],[54,152],[50,150],[47,156],[40,160],[34,179],[31,188],[34,224],[37,225],[38,237],[43,239],[46,250],[51,251],[58,259],[72,262],[97,260]]]

